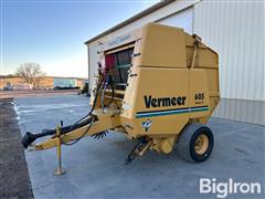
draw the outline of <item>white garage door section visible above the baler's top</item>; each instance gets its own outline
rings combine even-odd
[[[178,27],[192,34],[193,7],[158,21],[161,24]]]

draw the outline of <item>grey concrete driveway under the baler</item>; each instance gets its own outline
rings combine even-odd
[[[22,135],[54,128],[60,121],[72,124],[86,115],[88,98],[77,95],[15,100]],[[148,151],[125,165],[135,142],[113,133],[100,140],[83,138],[63,146],[64,176],[53,176],[55,149],[25,150],[35,198],[216,198],[200,193],[200,178],[227,182],[261,182],[262,193],[231,193],[229,198],[264,198],[265,127],[211,118],[215,136],[214,151],[202,164],[190,164],[173,151],[160,155]]]

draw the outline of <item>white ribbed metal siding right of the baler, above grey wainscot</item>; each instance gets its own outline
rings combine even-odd
[[[205,0],[193,25],[219,53],[221,97],[264,101],[264,3]]]

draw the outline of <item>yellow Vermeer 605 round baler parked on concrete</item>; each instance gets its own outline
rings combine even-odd
[[[26,133],[24,147],[42,150],[117,130],[139,140],[128,163],[147,149],[170,153],[176,143],[183,158],[205,160],[214,144],[205,123],[220,98],[218,54],[198,35],[157,23],[100,45],[91,112],[71,126]]]

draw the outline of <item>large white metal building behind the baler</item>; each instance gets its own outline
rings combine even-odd
[[[100,43],[148,22],[195,33],[219,53],[221,103],[214,116],[265,125],[263,1],[161,1],[85,42],[89,85]]]

